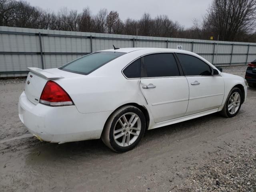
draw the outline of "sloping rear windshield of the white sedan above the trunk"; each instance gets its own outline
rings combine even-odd
[[[78,73],[83,75],[88,75],[94,70],[100,68],[104,64],[124,55],[126,53],[123,52],[95,52],[92,54],[88,54],[81,58],[78,58],[64,66],[61,66],[59,69]]]

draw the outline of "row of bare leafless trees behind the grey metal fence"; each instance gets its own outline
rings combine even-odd
[[[123,21],[115,10],[92,14],[86,7],[82,12],[68,8],[50,12],[22,0],[0,0],[0,26],[206,40],[213,36],[243,42],[256,42],[256,0],[212,0],[202,22],[192,22],[185,28],[166,15],[152,18],[149,13]]]

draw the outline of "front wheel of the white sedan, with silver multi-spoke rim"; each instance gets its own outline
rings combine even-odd
[[[219,112],[220,115],[230,118],[238,114],[242,105],[242,91],[234,87],[228,94],[228,98],[224,104],[223,109]]]

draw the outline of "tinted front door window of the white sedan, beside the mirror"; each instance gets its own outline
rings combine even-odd
[[[186,76],[199,76],[199,75],[211,75],[212,68],[200,60],[191,55],[177,54],[182,68],[185,70]]]

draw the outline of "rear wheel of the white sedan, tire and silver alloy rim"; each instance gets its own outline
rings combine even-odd
[[[101,138],[111,150],[126,152],[140,142],[145,129],[146,120],[142,111],[135,106],[123,106],[108,118]]]

